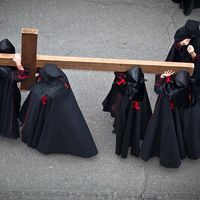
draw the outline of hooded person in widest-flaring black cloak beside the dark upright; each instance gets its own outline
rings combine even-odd
[[[22,141],[41,153],[80,157],[98,151],[64,72],[47,64],[22,109]]]

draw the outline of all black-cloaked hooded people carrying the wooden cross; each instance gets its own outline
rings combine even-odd
[[[200,23],[188,20],[177,30],[167,61],[194,62],[193,75],[158,74],[158,94],[152,114],[142,69],[115,72],[103,110],[114,117],[116,154],[143,160],[158,156],[165,167],[178,167],[181,159],[200,157]],[[0,53],[15,53],[8,39],[0,42]],[[91,157],[98,153],[90,130],[76,102],[65,73],[56,65],[38,69],[35,83],[22,107],[17,86],[28,78],[28,70],[0,67],[0,135],[21,137],[39,152]]]

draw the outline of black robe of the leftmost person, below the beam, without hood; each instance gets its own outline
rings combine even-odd
[[[19,137],[18,113],[21,95],[17,87],[17,70],[0,67],[0,134],[4,137]]]

